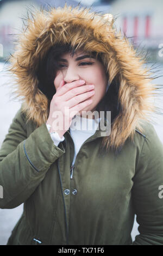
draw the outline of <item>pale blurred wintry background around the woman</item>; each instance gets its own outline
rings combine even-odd
[[[23,22],[26,23],[28,10],[40,7],[48,9],[48,4],[56,8],[64,7],[65,2],[73,7],[76,7],[80,2],[81,6],[91,7],[92,11],[114,15],[117,29],[121,29],[121,32],[128,36],[135,48],[146,54],[148,65],[153,67],[154,75],[157,77],[154,83],[163,84],[162,0],[0,0],[0,147],[8,133],[12,119],[21,106],[20,101],[10,97],[9,80],[12,80],[12,77],[9,77],[4,71],[4,67],[7,65],[6,60],[14,51],[16,34],[21,33]],[[163,97],[161,92],[158,92],[154,100],[158,102],[157,105],[162,109]],[[155,130],[163,143],[163,115],[154,115],[153,121]],[[23,204],[15,209],[0,209],[0,245],[7,243],[22,211]],[[131,233],[133,240],[139,234],[137,227],[138,224],[135,220]]]

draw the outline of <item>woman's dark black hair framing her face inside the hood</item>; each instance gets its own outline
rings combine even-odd
[[[43,94],[47,96],[48,107],[51,103],[53,95],[56,93],[54,87],[54,78],[58,70],[58,58],[63,53],[70,53],[73,57],[78,50],[79,49],[76,49],[76,47],[72,47],[71,44],[56,44],[49,49],[45,58],[40,60],[39,67],[36,71],[36,75],[39,81],[38,88]],[[80,48],[80,50],[83,50],[83,48]],[[103,64],[102,53],[89,52],[88,54],[90,57],[93,56]],[[105,74],[107,78],[109,78],[105,65],[104,68]],[[111,111],[111,123],[119,111],[119,84],[120,83],[118,82],[118,77],[115,77],[109,86],[108,92],[104,95],[103,99],[98,103],[96,107],[97,111]]]

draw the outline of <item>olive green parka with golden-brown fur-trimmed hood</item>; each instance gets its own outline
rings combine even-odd
[[[24,101],[0,150],[0,208],[24,203],[24,210],[8,245],[163,245],[163,146],[153,125],[143,120],[152,111],[148,99],[155,87],[144,79],[147,71],[139,57],[103,15],[65,5],[37,12],[33,19],[10,58]],[[100,154],[99,126],[80,148],[70,179],[70,130],[54,145],[46,127],[47,97],[37,87],[34,70],[51,44],[65,36],[80,41],[77,33],[87,50],[92,43],[104,53],[110,80],[116,72],[120,76],[121,109],[112,122],[109,151]],[[121,148],[118,154],[114,146]],[[135,214],[140,235],[132,241]]]

